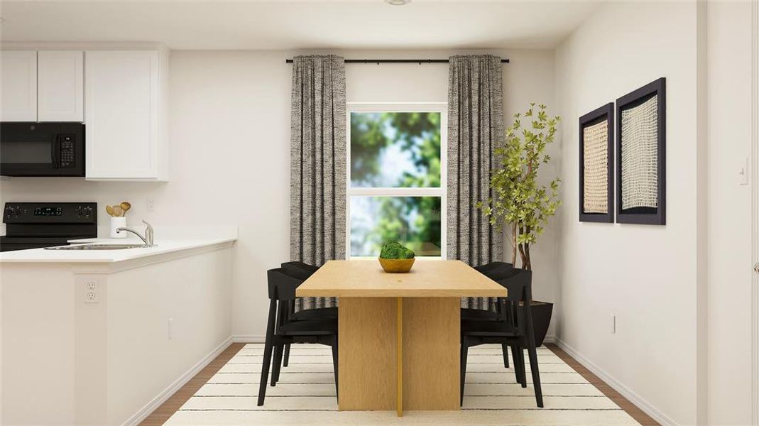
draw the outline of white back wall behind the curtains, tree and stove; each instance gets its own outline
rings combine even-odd
[[[154,225],[238,225],[233,333],[260,338],[266,326],[265,271],[289,256],[291,65],[285,58],[294,53],[172,52],[168,183],[13,178],[0,181],[0,201],[94,200],[102,207],[130,200],[130,224],[146,218]],[[349,58],[446,58],[454,53],[467,52],[340,52]],[[506,115],[530,102],[553,105],[553,51],[493,53],[512,59],[503,67]],[[348,65],[346,78],[349,102],[447,97],[446,65]],[[155,200],[154,212],[146,211],[148,197]],[[101,212],[100,225],[106,219]],[[556,235],[548,226],[534,250],[534,292],[547,301],[558,295]]]

